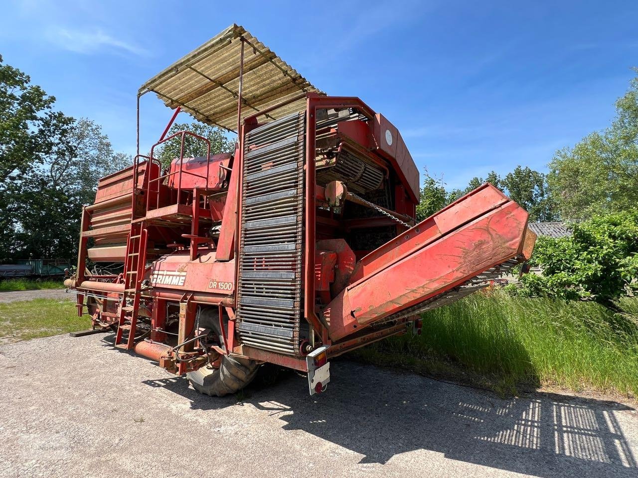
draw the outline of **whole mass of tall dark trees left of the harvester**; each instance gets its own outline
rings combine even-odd
[[[75,256],[98,178],[131,164],[101,127],[0,61],[0,261]]]

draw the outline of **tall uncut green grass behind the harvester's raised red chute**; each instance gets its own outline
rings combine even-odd
[[[592,302],[477,293],[424,314],[421,335],[391,337],[359,357],[426,372],[442,362],[508,393],[525,384],[635,396],[638,300],[619,306],[627,313]]]

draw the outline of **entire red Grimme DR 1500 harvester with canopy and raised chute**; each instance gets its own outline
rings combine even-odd
[[[418,328],[420,313],[530,257],[528,214],[490,184],[415,224],[419,171],[401,134],[359,98],[326,96],[232,25],[145,83],[195,119],[237,131],[211,154],[189,131],[102,178],[85,206],[78,313],[203,393],[246,386],[262,363],[308,373]],[[188,136],[205,157],[184,157]],[[166,141],[182,154],[154,157]],[[119,262],[117,275],[86,267]],[[95,269],[94,269],[95,271]]]

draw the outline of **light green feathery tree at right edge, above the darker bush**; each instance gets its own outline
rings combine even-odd
[[[611,126],[559,150],[548,168],[549,185],[565,219],[587,219],[636,207],[638,77],[616,102]]]

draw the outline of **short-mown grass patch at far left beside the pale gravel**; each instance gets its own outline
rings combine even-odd
[[[17,342],[91,327],[87,315],[77,316],[70,300],[34,299],[0,303],[0,341]]]

